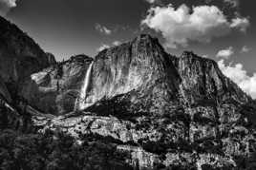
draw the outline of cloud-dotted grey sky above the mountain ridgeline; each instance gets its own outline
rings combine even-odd
[[[103,48],[150,33],[171,54],[192,50],[215,60],[226,76],[256,98],[254,4],[251,0],[0,0],[0,14],[58,61],[81,53],[94,57]]]

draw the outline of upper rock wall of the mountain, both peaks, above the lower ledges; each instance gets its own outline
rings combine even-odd
[[[55,104],[72,103],[67,107],[64,104],[54,106],[51,102],[51,107],[61,108],[61,112],[74,110],[75,98],[84,103],[80,105],[88,107],[102,100],[116,100],[125,96],[122,98],[125,101],[123,104],[144,104],[143,107],[151,111],[151,107],[154,107],[154,112],[160,112],[161,106],[180,102],[197,104],[203,100],[234,100],[244,104],[249,100],[237,85],[224,76],[215,61],[191,51],[184,51],[181,57],[171,56],[160,46],[158,39],[148,34],[141,34],[131,42],[105,49],[95,59],[84,54],[73,56],[64,63],[33,75],[36,76],[38,79],[34,80],[40,80],[36,82],[39,86],[43,85],[40,89],[54,89],[59,93],[53,98],[58,100]],[[68,90],[65,95],[62,94],[64,89]],[[71,91],[71,97],[67,97]],[[68,101],[63,102],[66,99]],[[43,109],[45,104],[40,106],[38,102],[37,106]]]

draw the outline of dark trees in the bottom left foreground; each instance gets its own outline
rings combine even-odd
[[[117,151],[115,144],[96,138],[93,134],[88,135],[79,145],[74,138],[60,132],[21,134],[1,130],[0,169],[131,169],[125,162],[126,154]]]

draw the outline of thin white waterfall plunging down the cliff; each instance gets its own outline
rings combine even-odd
[[[87,104],[86,104],[86,98],[87,98],[87,91],[88,91],[88,86],[90,85],[90,78],[91,78],[91,72],[93,69],[93,65],[94,62],[91,63],[91,65],[88,67],[86,75],[85,75],[85,79],[80,91],[80,97],[79,100],[77,100],[78,102],[78,109],[82,110],[84,108],[86,108]]]

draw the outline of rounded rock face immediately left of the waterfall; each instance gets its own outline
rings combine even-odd
[[[45,113],[65,114],[76,109],[76,101],[93,59],[85,55],[54,64],[31,75],[20,95]]]

